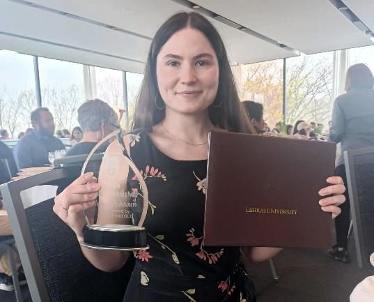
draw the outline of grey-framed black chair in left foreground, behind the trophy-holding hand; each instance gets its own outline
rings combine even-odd
[[[116,273],[95,269],[68,225],[52,211],[54,200],[25,207],[20,193],[51,184],[63,190],[79,175],[63,167],[0,186],[33,302],[122,301],[133,263]]]

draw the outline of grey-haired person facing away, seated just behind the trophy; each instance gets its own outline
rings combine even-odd
[[[72,146],[66,156],[90,153],[95,144],[118,128],[118,116],[107,103],[95,98],[86,100],[78,108],[78,123],[83,131],[83,139]]]

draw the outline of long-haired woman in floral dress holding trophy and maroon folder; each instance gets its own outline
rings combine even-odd
[[[165,178],[147,178],[156,206],[153,215],[148,211],[145,223],[150,249],[137,253],[124,301],[239,301],[240,291],[247,301],[254,301],[251,283],[237,270],[240,249],[208,248],[201,242],[208,131],[251,132],[226,50],[205,17],[178,13],[157,31],[135,111],[132,128],[139,130],[127,135],[125,144],[132,145],[131,156],[139,169],[157,168]],[[118,142],[107,153],[119,154]],[[122,177],[128,180],[127,174]],[[344,187],[339,178],[327,181],[333,186],[320,195],[336,196],[321,199],[320,204],[322,211],[336,216]],[[54,211],[72,227],[79,242],[85,224],[81,209],[90,209],[100,190],[95,182],[92,174],[84,174],[55,199]],[[242,253],[263,261],[280,250],[243,248]],[[120,268],[129,257],[125,252],[82,251],[105,271]]]

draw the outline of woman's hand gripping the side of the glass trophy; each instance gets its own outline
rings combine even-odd
[[[87,224],[82,210],[90,223],[93,222],[93,205],[99,190],[98,180],[92,172],[88,172],[75,179],[54,198],[54,213],[69,225],[77,236],[83,236],[83,227]]]

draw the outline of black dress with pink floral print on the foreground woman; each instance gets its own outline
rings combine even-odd
[[[255,301],[239,248],[202,244],[207,161],[173,160],[144,132],[130,134],[130,153],[148,187],[150,248],[135,255],[124,302]],[[128,182],[141,199],[137,176]]]

